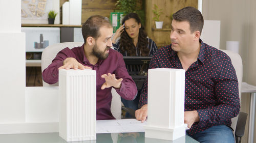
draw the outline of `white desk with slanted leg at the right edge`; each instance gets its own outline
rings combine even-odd
[[[256,87],[246,82],[242,82],[242,93],[251,93],[250,114],[249,114],[249,132],[248,142],[253,142],[254,122],[255,122],[255,104],[256,104]]]

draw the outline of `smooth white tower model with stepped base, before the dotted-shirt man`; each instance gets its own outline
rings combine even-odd
[[[185,135],[185,70],[148,70],[145,137],[175,140]]]

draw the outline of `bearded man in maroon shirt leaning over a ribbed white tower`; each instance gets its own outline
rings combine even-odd
[[[111,113],[112,87],[126,100],[137,95],[136,84],[125,68],[122,54],[111,49],[113,27],[108,18],[94,15],[82,25],[84,44],[59,51],[52,64],[42,72],[49,84],[58,81],[59,69],[96,70],[97,120],[115,119]]]

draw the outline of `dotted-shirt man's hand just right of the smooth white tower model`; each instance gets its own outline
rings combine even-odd
[[[198,116],[197,110],[185,111],[184,123],[187,124],[187,127],[190,129],[195,122],[199,122],[199,116]]]

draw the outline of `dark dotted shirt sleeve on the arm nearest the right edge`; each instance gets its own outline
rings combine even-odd
[[[214,80],[216,106],[199,109],[200,122],[198,126],[215,125],[236,117],[240,111],[240,99],[238,91],[238,79],[231,60],[220,63],[218,77]]]

